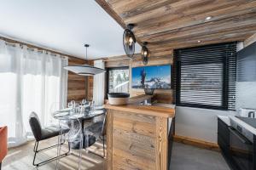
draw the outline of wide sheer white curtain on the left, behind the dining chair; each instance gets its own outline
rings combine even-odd
[[[45,51],[6,45],[0,40],[0,127],[9,127],[9,147],[32,139],[28,118],[35,111],[43,126],[52,122],[50,106],[66,105],[67,59]]]

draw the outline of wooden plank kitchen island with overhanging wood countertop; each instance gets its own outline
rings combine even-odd
[[[108,170],[166,170],[169,167],[174,108],[105,105]]]

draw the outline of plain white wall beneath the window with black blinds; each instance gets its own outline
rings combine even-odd
[[[217,143],[217,116],[232,113],[177,106],[175,133],[184,137]]]

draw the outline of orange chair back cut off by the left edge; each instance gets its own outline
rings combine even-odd
[[[6,155],[7,155],[7,127],[0,127],[0,162],[3,161],[3,158]]]

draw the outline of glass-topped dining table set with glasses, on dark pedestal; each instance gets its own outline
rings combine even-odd
[[[53,117],[56,120],[59,120],[59,122],[70,122],[73,120],[79,120],[79,123],[81,123],[80,127],[82,128],[82,134],[83,134],[83,148],[85,149],[88,144],[85,144],[86,136],[89,135],[88,132],[84,130],[84,122],[90,121],[96,116],[102,116],[105,114],[106,110],[103,108],[103,106],[96,106],[94,111],[90,111],[90,109],[84,109],[84,111],[78,111],[76,109],[72,108],[66,108],[59,111],[55,111],[53,113]],[[72,147],[73,149],[79,149],[77,146]]]

